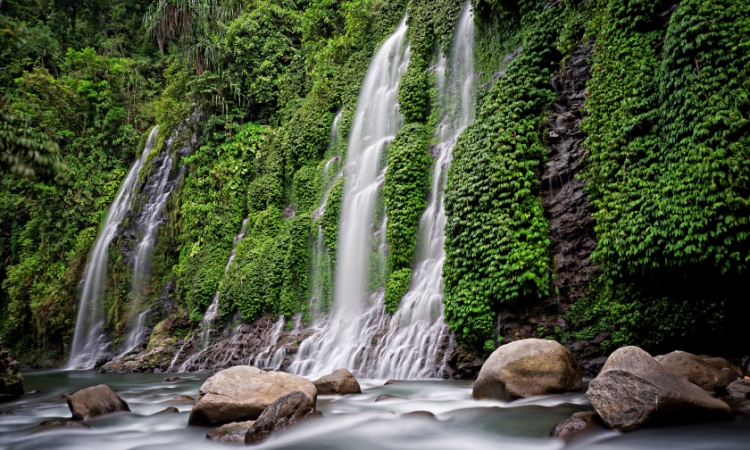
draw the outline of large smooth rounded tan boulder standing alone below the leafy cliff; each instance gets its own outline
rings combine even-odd
[[[490,355],[474,383],[475,399],[513,400],[581,390],[581,369],[556,341],[524,339]]]

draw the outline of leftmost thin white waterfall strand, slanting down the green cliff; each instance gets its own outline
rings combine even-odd
[[[156,145],[156,134],[159,127],[154,127],[141,157],[133,163],[128,175],[120,186],[114,202],[109,207],[107,219],[96,237],[94,248],[88,258],[83,275],[83,290],[78,304],[76,329],[73,334],[73,345],[68,369],[91,369],[96,362],[109,351],[111,342],[104,333],[104,283],[107,273],[107,252],[109,244],[117,235],[117,230],[125,215],[130,211],[133,201],[138,173],[146,162],[148,154]]]

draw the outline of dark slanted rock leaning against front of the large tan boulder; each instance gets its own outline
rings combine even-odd
[[[271,433],[292,427],[299,422],[320,416],[315,410],[315,401],[304,392],[294,391],[279,397],[268,405],[253,426],[245,434],[245,444],[257,444]]]

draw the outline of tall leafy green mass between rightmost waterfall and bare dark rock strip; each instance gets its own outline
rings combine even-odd
[[[537,171],[545,155],[540,113],[554,100],[548,80],[559,60],[558,12],[529,15],[523,52],[461,135],[448,174],[445,315],[460,341],[475,348],[494,341],[493,308],[546,295],[549,285]]]

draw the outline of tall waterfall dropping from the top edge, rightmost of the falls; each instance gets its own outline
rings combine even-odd
[[[445,74],[448,70],[447,76]],[[373,378],[416,379],[441,375],[437,360],[448,334],[443,320],[442,271],[445,260],[445,207],[443,194],[453,148],[474,121],[474,14],[464,6],[454,33],[450,61],[441,55],[436,68],[441,109],[440,142],[432,171],[428,205],[419,222],[417,262],[411,286],[379,340],[366,373]]]

